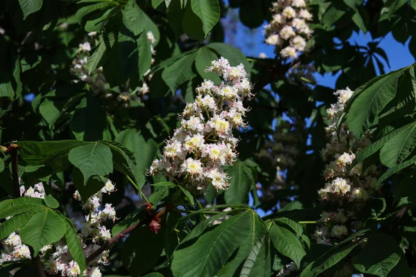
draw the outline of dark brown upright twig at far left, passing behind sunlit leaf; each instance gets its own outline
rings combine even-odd
[[[11,163],[12,163],[12,179],[13,179],[13,193],[15,198],[20,197],[20,184],[19,184],[19,146],[12,143],[8,147],[8,152],[10,152]],[[32,247],[29,247],[31,251],[31,256],[33,256],[32,262],[35,266],[37,276],[46,277],[42,262],[40,260],[39,254],[34,256],[34,251]]]

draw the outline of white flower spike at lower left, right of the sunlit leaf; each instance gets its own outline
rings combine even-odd
[[[78,240],[80,244],[83,244],[84,256],[88,257],[94,251],[101,247],[101,244],[107,240],[111,239],[110,230],[103,225],[106,220],[116,220],[116,211],[112,207],[112,204],[105,204],[102,207],[102,198],[103,194],[110,194],[116,190],[116,187],[112,181],[107,180],[105,186],[96,194],[89,197],[85,203],[83,203],[83,208],[87,212],[85,216],[85,222],[78,229]],[[73,198],[82,201],[78,190],[73,194]],[[76,228],[77,224],[74,224]],[[91,241],[92,244],[88,246],[85,244],[86,241]],[[101,244],[100,244],[101,243]],[[90,265],[92,267],[87,267],[83,272],[83,276],[88,277],[101,277],[101,271],[99,266],[108,265],[108,253],[110,251],[104,251],[94,259]],[[80,268],[76,261],[72,259],[71,253],[68,252],[67,245],[57,245],[55,247],[55,252],[49,256],[48,263],[45,266],[46,272],[49,274],[60,274],[61,276],[75,277],[80,275]]]

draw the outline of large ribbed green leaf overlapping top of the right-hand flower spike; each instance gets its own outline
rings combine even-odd
[[[380,111],[396,95],[397,82],[404,69],[392,71],[378,78],[354,99],[347,114],[347,124],[356,138],[374,122]]]

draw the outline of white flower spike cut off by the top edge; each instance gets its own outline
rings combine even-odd
[[[275,45],[281,57],[297,57],[312,33],[307,23],[312,15],[305,0],[278,0],[272,3],[272,12],[272,21],[264,26],[266,44]]]

